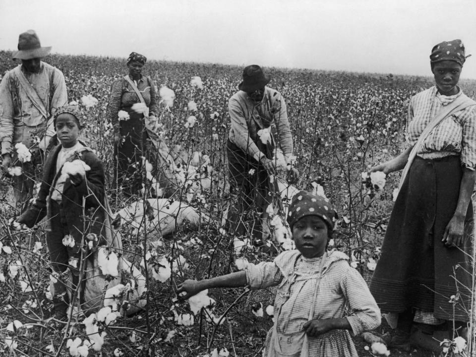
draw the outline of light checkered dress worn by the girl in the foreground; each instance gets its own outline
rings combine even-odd
[[[380,312],[367,284],[347,262],[347,255],[332,251],[326,253],[320,276],[321,258],[308,259],[297,250],[278,255],[273,262],[249,264],[246,279],[251,289],[263,289],[278,285],[274,304],[276,328],[268,332],[265,345],[266,357],[285,356],[288,343],[302,332],[313,307],[313,319],[347,316],[352,332],[357,335],[380,325]],[[314,299],[314,295],[317,294]],[[286,335],[286,336],[285,336]],[[302,343],[302,339],[297,339]],[[278,344],[278,345],[277,345]],[[278,346],[278,347],[276,347]],[[308,337],[309,356],[342,357],[357,356],[349,331],[331,330],[318,337]],[[294,356],[291,355],[290,356]],[[299,356],[299,355],[297,355]]]

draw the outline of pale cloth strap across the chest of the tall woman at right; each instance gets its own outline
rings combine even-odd
[[[416,144],[414,145],[412,151],[410,152],[410,155],[408,157],[407,164],[405,165],[405,168],[403,169],[402,177],[400,179],[400,183],[398,185],[398,190],[400,192],[400,189],[402,188],[403,182],[405,181],[405,178],[407,177],[410,167],[412,166],[413,161],[415,160],[416,154],[420,150],[421,146],[423,145],[423,141],[426,139],[426,137],[429,135],[429,133],[434,129],[436,125],[438,125],[441,121],[444,119],[448,118],[449,116],[462,111],[463,109],[466,109],[470,106],[476,105],[476,102],[472,99],[470,99],[468,96],[466,96],[464,93],[462,93],[458,98],[456,98],[453,102],[448,104],[446,107],[443,107],[443,109],[438,113],[438,115],[431,120],[428,125],[426,125],[425,129],[419,136],[418,140],[416,141]]]

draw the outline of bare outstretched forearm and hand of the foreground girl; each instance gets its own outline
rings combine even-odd
[[[239,271],[227,275],[221,275],[211,279],[185,280],[177,287],[179,297],[187,299],[210,288],[239,288],[246,286],[246,273]],[[185,294],[183,294],[185,293]]]

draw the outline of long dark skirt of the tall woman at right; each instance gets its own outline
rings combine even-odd
[[[469,321],[472,297],[473,204],[461,247],[441,241],[459,198],[459,156],[416,158],[390,216],[370,292],[382,311],[416,307],[441,319]],[[451,296],[459,297],[453,304]]]

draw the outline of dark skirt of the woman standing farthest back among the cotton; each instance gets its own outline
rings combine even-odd
[[[119,122],[121,142],[114,145],[115,183],[124,194],[136,194],[142,188],[142,156],[144,154],[147,133],[144,116],[135,113],[131,107],[121,107],[129,113],[130,119]]]

